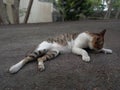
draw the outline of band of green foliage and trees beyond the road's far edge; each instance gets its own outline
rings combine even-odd
[[[63,21],[89,17],[119,18],[120,14],[120,0],[56,0],[55,4]]]

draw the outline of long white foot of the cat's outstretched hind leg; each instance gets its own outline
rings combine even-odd
[[[24,65],[23,62],[24,62],[24,61],[22,60],[22,61],[20,61],[19,63],[11,66],[10,69],[9,69],[9,72],[10,72],[10,73],[16,73],[16,72],[18,72],[18,71],[22,68],[22,66]]]

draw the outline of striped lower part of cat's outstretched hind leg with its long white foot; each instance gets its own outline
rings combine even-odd
[[[26,63],[36,60],[38,57],[43,56],[47,52],[46,49],[42,51],[35,51],[29,55],[27,55],[24,59],[22,59],[20,62],[17,64],[13,65],[10,67],[9,72],[10,73],[16,73],[18,72]]]

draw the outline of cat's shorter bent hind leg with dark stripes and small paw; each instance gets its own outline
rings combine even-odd
[[[58,50],[50,50],[44,56],[39,57],[38,60],[38,70],[43,71],[45,69],[44,61],[55,58],[59,55]]]

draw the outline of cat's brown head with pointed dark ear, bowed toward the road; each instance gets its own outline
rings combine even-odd
[[[104,29],[103,31],[99,32],[99,33],[92,33],[92,48],[94,50],[100,50],[103,48],[104,45],[104,35],[105,35],[106,29]]]

